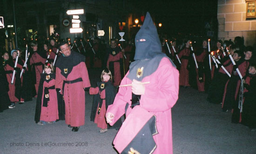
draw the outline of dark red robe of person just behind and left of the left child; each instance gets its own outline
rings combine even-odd
[[[32,56],[30,58],[30,65],[33,65],[33,64],[39,63],[39,62],[41,62],[42,64],[45,64],[45,61],[46,61],[46,59],[42,58],[37,52],[35,52],[34,54],[32,54]],[[36,90],[36,94],[37,94],[39,82],[40,82],[40,78],[41,78],[41,73],[43,73],[43,66],[35,65],[34,68],[35,68],[35,76],[36,76],[36,81],[35,81],[34,86],[35,86],[35,90]],[[37,95],[35,97],[37,97]]]

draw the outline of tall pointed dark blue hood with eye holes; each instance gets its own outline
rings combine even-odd
[[[148,12],[135,36],[135,46],[135,60],[152,59],[158,54],[163,54],[156,27]]]

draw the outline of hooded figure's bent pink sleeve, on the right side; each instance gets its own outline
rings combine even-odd
[[[141,107],[152,112],[166,111],[178,100],[179,72],[168,59],[163,59],[155,73],[157,85],[146,85]]]

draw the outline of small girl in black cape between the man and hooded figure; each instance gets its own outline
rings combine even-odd
[[[109,125],[106,122],[105,114],[108,106],[113,104],[115,99],[115,87],[112,82],[112,74],[108,68],[104,69],[101,73],[101,82],[97,82],[97,87],[90,87],[89,94],[94,94],[91,121],[100,127],[100,133],[105,133],[109,129]],[[111,127],[119,129],[121,127],[121,119],[115,123],[115,126]]]

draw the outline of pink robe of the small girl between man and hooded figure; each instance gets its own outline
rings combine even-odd
[[[98,94],[98,93],[100,93],[101,99],[104,99],[104,100],[102,100],[100,114],[98,114],[99,104],[97,106],[97,111],[96,111],[96,115],[95,115],[95,118],[94,118],[94,123],[97,124],[97,127],[100,127],[102,129],[108,128],[108,125],[107,125],[107,122],[106,122],[106,119],[105,119],[105,114],[106,114],[105,90],[102,90],[100,92],[99,87],[95,87],[95,88],[94,87],[90,87],[89,93],[90,94]]]

